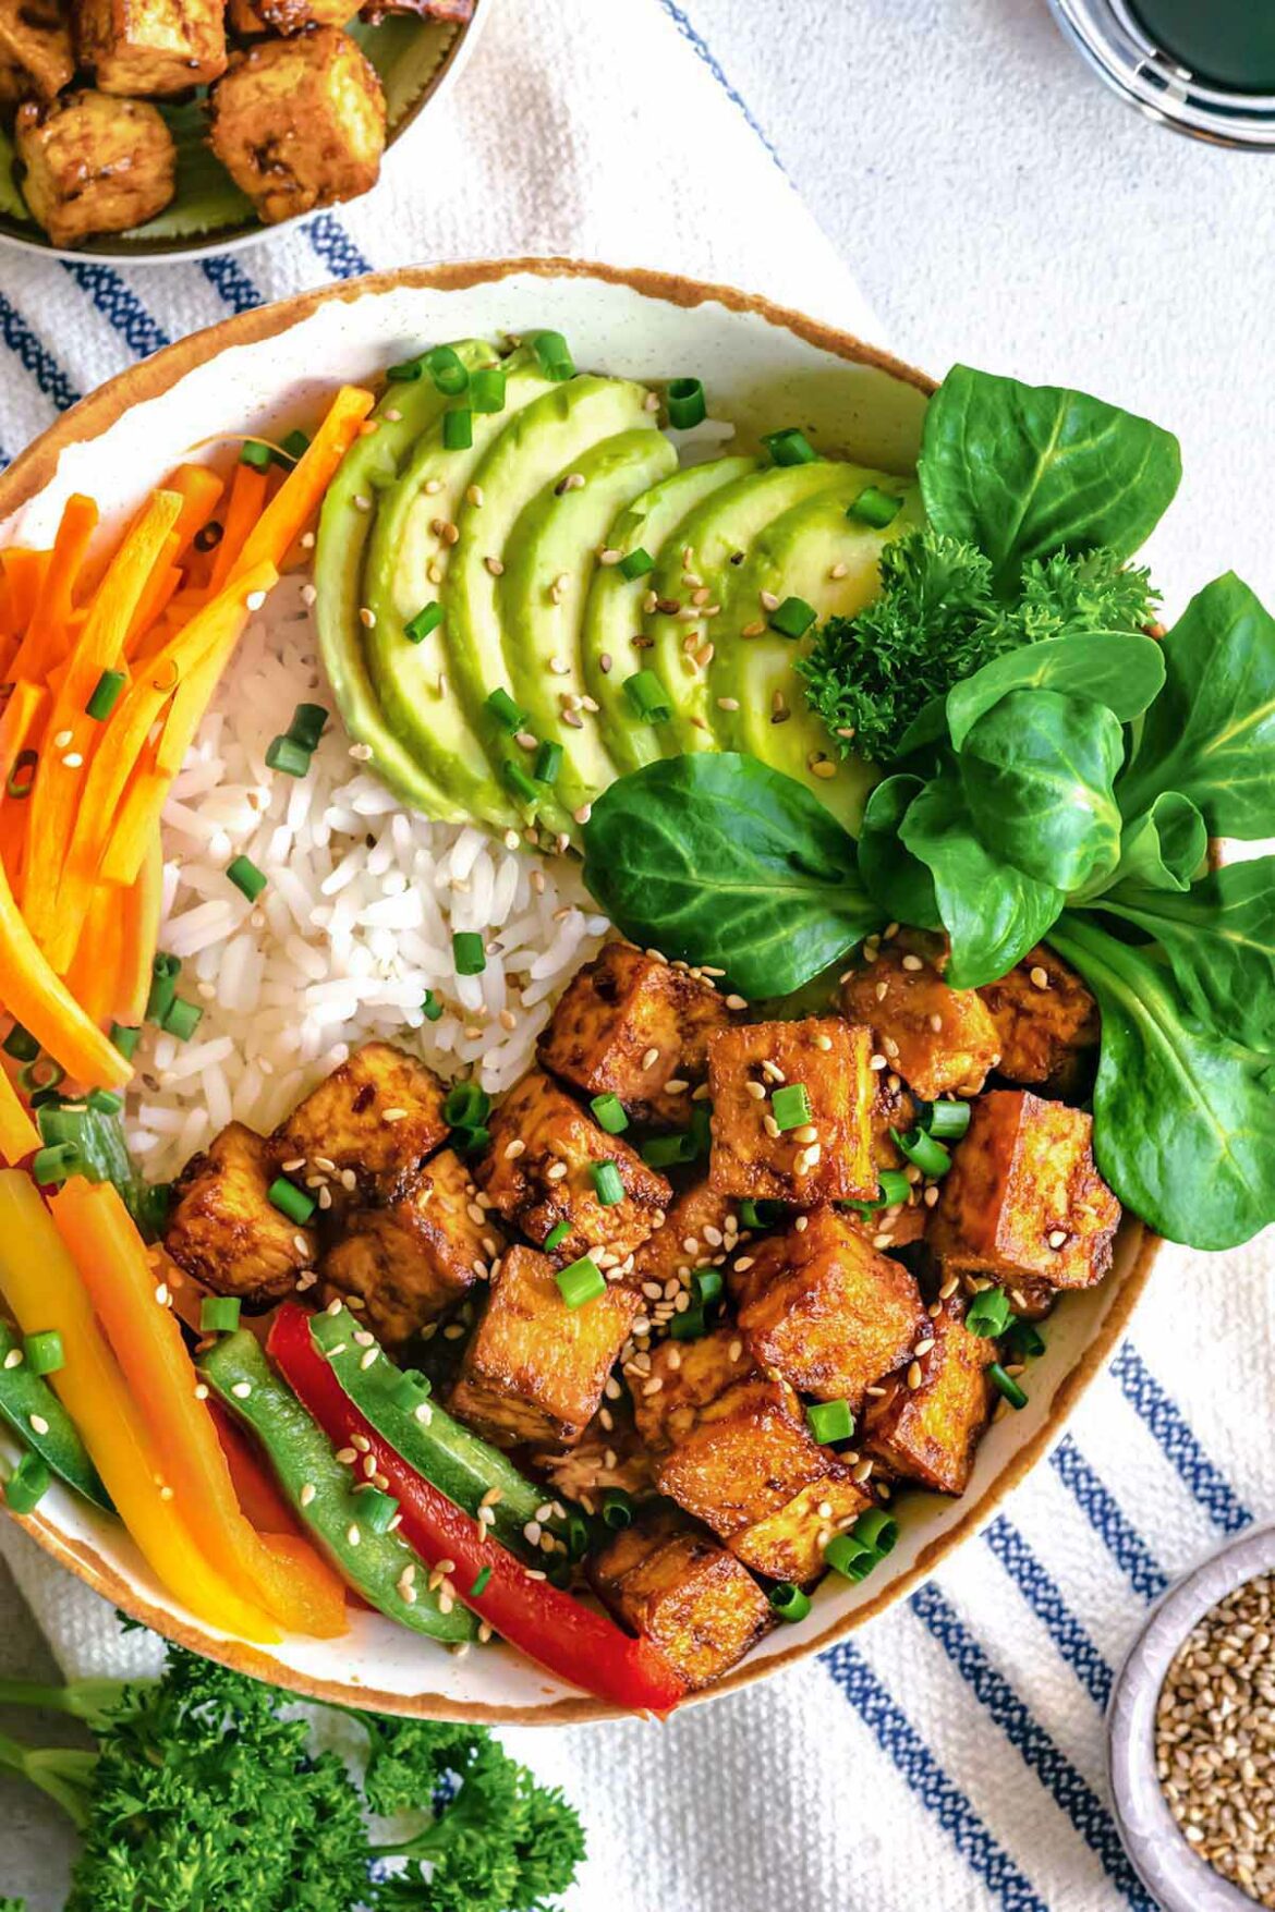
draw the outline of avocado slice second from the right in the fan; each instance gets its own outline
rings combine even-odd
[[[646,665],[663,684],[671,719],[656,725],[665,757],[690,750],[717,750],[709,723],[707,665],[717,648],[721,612],[734,576],[753,541],[772,518],[803,505],[837,484],[839,467],[830,459],[812,465],[767,465],[713,491],[665,543],[648,583],[658,604],[642,619],[652,646]],[[700,598],[700,604],[696,604]],[[650,595],[646,602],[652,602]]]

